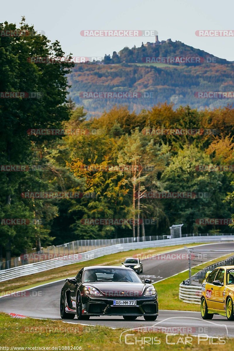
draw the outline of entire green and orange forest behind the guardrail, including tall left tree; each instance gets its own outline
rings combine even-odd
[[[5,22],[2,28],[14,30],[15,25]],[[20,29],[33,31],[24,19]],[[1,91],[42,93],[40,99],[1,99],[1,165],[29,167],[26,172],[1,171],[1,219],[41,220],[1,225],[1,257],[10,259],[33,247],[39,250],[41,245],[77,239],[168,234],[172,224],[184,223],[184,233],[233,230],[227,225],[196,223],[199,218],[232,218],[234,212],[233,172],[196,169],[198,165],[234,164],[232,106],[199,111],[155,103],[131,112],[127,106],[116,105],[108,112],[103,108],[99,118],[94,114],[87,119],[84,107],[67,95],[67,77],[73,66],[69,59],[48,65],[27,60],[30,56],[64,56],[59,42],[51,43],[44,35],[6,37],[0,38],[0,47]],[[27,133],[35,128],[86,132],[65,136]],[[207,128],[216,133],[155,135],[147,134],[146,128]],[[105,169],[123,165],[131,167]],[[21,196],[48,191],[94,193],[95,197]],[[143,195],[149,191],[204,192],[209,196],[145,199]],[[153,219],[155,224],[85,225],[87,218]]]

